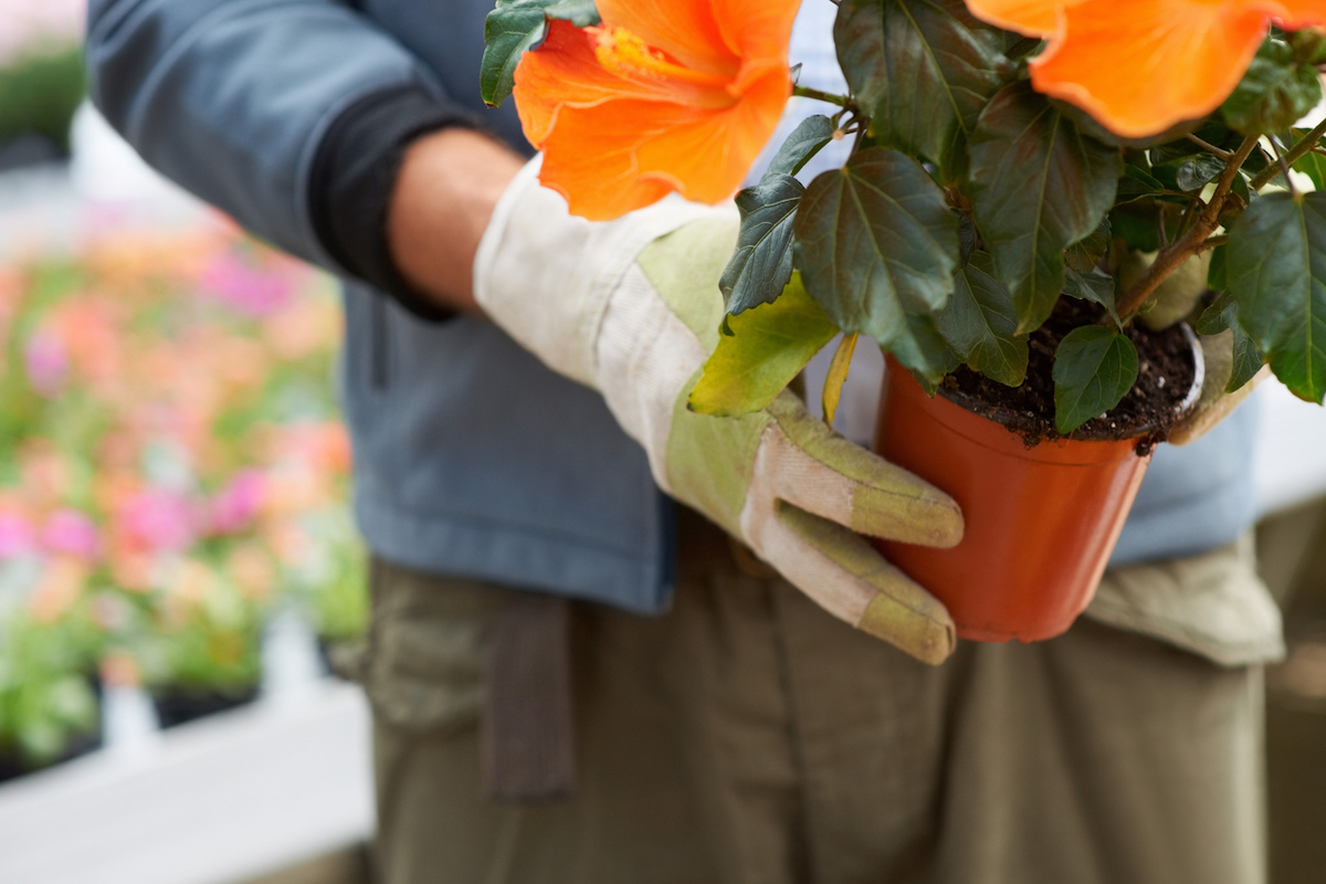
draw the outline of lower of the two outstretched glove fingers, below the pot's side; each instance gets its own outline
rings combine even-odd
[[[957,645],[943,603],[859,534],[782,504],[761,541],[760,555],[839,620],[931,665]]]

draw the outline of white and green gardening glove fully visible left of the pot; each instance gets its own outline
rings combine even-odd
[[[475,258],[475,298],[553,370],[598,390],[658,484],[846,623],[926,663],[955,647],[944,606],[857,531],[948,547],[947,494],[834,433],[784,391],[743,417],[687,408],[723,318],[732,205],[672,196],[615,221],[573,217],[526,166]]]

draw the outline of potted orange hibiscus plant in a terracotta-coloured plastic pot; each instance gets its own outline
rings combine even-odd
[[[785,69],[786,42],[781,60],[739,58],[725,80],[701,54],[650,44],[676,49],[683,17],[704,17],[691,7],[711,5],[723,27],[784,40],[796,13],[717,0],[675,21],[630,12],[640,36],[599,24],[590,3],[501,3],[485,95],[511,90],[522,52],[564,52],[568,27],[590,28],[590,53],[542,65],[560,82],[526,87],[564,90],[577,107],[629,99],[626,135],[603,133],[605,158],[635,156],[646,139],[656,156],[668,126],[753,131],[769,90],[749,83]],[[728,315],[691,408],[762,408],[842,333],[831,420],[853,349],[873,338],[906,370],[890,372],[879,451],[967,518],[953,550],[886,545],[888,557],[948,606],[959,635],[1062,632],[1094,592],[1150,451],[1199,395],[1205,407],[1235,394],[1268,362],[1297,395],[1326,392],[1326,192],[1314,192],[1326,123],[1294,129],[1322,98],[1323,24],[1326,8],[1303,3],[842,0],[849,89],[801,87],[789,73],[784,99],[826,111],[736,197]],[[731,101],[704,91],[715,82]],[[667,113],[651,117],[650,101]],[[749,113],[713,122],[720,101]],[[566,151],[556,118],[530,122],[546,183]],[[841,168],[798,180],[843,139]],[[652,199],[700,193],[678,175],[650,180]],[[575,188],[593,183],[581,170],[556,186],[574,212]]]

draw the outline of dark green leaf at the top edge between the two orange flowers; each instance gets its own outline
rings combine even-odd
[[[963,146],[1008,68],[1004,36],[963,0],[843,0],[834,41],[876,143],[924,156],[956,180]]]

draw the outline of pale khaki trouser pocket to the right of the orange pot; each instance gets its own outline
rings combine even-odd
[[[1252,534],[1203,555],[1107,571],[1086,616],[1223,667],[1285,656],[1280,608],[1257,577]]]

